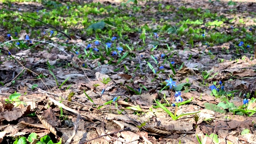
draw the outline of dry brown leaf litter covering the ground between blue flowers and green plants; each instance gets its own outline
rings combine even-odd
[[[34,12],[38,10],[38,4],[16,3],[11,9],[18,10],[19,8],[21,12]],[[63,4],[66,5],[67,3]],[[113,8],[121,5],[118,2],[116,4],[103,2],[103,6],[109,4],[112,4]],[[146,6],[152,6],[152,8],[148,9],[146,6],[142,6],[141,10],[136,13],[130,9],[123,9],[123,6],[120,6],[120,10],[124,10],[124,12],[138,19],[136,25],[148,25],[148,28],[152,30],[157,29],[159,26],[164,26],[163,23],[159,22],[160,19],[171,19],[173,22],[170,24],[175,26],[183,20],[182,17],[188,17],[188,15],[192,14],[193,10],[189,8],[201,8],[198,9],[198,14],[202,14],[200,13],[202,10],[209,9],[211,10],[210,12],[220,17],[224,16],[229,19],[240,17],[243,19],[245,27],[255,25],[250,20],[254,16],[252,14],[254,10],[252,5],[255,3],[250,1],[230,4],[230,2],[225,1],[190,0],[185,2],[180,0],[170,2],[139,2],[138,4],[146,4]],[[173,7],[164,12],[160,12],[158,7],[156,7],[160,5],[161,8],[165,8],[170,4]],[[43,6],[42,8],[45,7]],[[247,12],[244,12],[245,8]],[[185,12],[180,12],[179,9],[183,9]],[[230,9],[236,10],[237,14],[229,13]],[[47,8],[46,10],[49,9]],[[206,12],[208,12],[207,10]],[[94,19],[94,16],[88,17],[91,20]],[[67,18],[68,16],[66,16],[66,20]],[[152,18],[155,20],[152,20]],[[192,15],[189,18],[196,19],[197,16]],[[89,28],[91,27],[96,30],[100,27],[100,29],[104,30],[109,25],[109,23],[106,25],[105,22],[100,21],[103,20],[101,16],[97,17],[97,20],[99,20],[99,23],[96,24],[100,26],[94,24],[90,25]],[[200,26],[206,29],[206,36],[207,33],[211,35],[209,28],[206,28],[206,23],[211,21],[211,19],[206,18],[204,24]],[[214,29],[214,26],[210,28],[217,32],[231,34],[232,28],[230,28],[230,24],[232,26],[239,26],[241,21],[241,19],[236,19],[231,22],[224,22],[220,28]],[[24,24],[22,28],[27,28],[29,31],[33,30],[32,27]],[[38,28],[44,31],[42,25],[38,26]],[[62,29],[61,26],[56,26],[56,28]],[[75,28],[70,26],[70,29]],[[2,31],[7,34],[6,28]],[[38,44],[35,48],[28,50],[18,48],[10,50],[4,45],[2,50],[4,52],[7,51],[7,54],[8,50],[10,50],[16,60],[6,59],[6,55],[1,55],[0,80],[2,87],[0,90],[2,104],[0,104],[0,129],[3,131],[0,135],[1,142],[8,139],[6,137],[24,136],[32,132],[36,132],[38,136],[50,134],[52,130],[49,131],[47,126],[38,126],[41,119],[38,117],[40,116],[32,118],[28,116],[28,114],[32,114],[35,110],[39,110],[43,113],[42,117],[46,121],[46,125],[62,133],[60,137],[63,138],[64,142],[72,137],[74,134],[73,128],[77,126],[78,129],[72,143],[172,144],[179,141],[183,143],[196,143],[196,134],[199,137],[206,134],[216,134],[218,135],[219,142],[228,140],[232,143],[254,143],[256,137],[254,134],[255,125],[253,123],[255,121],[255,114],[251,117],[234,115],[232,111],[229,111],[234,110],[233,107],[218,107],[218,104],[225,101],[225,99],[222,97],[217,98],[208,88],[214,84],[213,82],[221,80],[225,83],[226,92],[238,90],[234,92],[234,95],[231,95],[232,99],[229,101],[233,102],[236,107],[242,104],[241,99],[243,98],[241,94],[248,93],[251,99],[255,98],[256,61],[250,58],[253,57],[252,54],[248,52],[237,54],[235,52],[237,50],[236,43],[239,43],[239,37],[233,41],[220,42],[215,46],[204,44],[204,40],[192,40],[195,46],[193,47],[188,38],[185,36],[178,38],[178,34],[174,31],[176,31],[175,27],[168,29],[168,32],[164,32],[160,39],[154,39],[154,36],[152,36],[153,39],[146,38],[145,44],[140,38],[143,30],[124,32],[128,36],[129,43],[133,44],[134,50],[128,51],[129,49],[125,46],[126,51],[123,51],[122,54],[129,52],[131,56],[122,60],[118,56],[115,58],[110,57],[110,53],[108,56],[106,55],[106,60],[104,61],[100,58],[82,59],[82,56],[79,56],[79,54],[86,49],[88,42],[95,39],[95,36],[92,38],[86,35],[71,36],[72,40],[68,42],[70,45],[56,46],[56,48],[52,48],[48,44]],[[184,30],[184,32],[188,31],[189,28]],[[236,34],[236,32],[232,32],[232,34]],[[31,35],[31,32],[26,33],[23,30],[19,34],[19,39],[24,40],[26,35]],[[150,37],[149,32],[146,32],[145,35]],[[102,37],[106,38],[106,36]],[[242,38],[244,37],[242,36]],[[85,40],[82,40],[84,38]],[[49,40],[45,36],[42,39]],[[52,44],[58,43],[58,38],[53,37],[50,39]],[[65,40],[59,41],[65,42]],[[118,43],[118,45],[124,47],[127,42],[127,40],[124,40]],[[35,43],[32,42],[28,46],[33,46],[33,44]],[[72,46],[80,48],[78,54],[72,53],[70,50],[68,53],[62,52],[64,49],[67,50]],[[40,50],[41,48],[44,48],[44,50]],[[228,50],[229,52],[222,52],[220,54],[218,51],[222,50]],[[168,57],[166,59],[165,57],[162,58],[162,54]],[[120,62],[118,62],[119,60]],[[175,64],[171,66],[171,64],[165,63],[163,64],[164,70],[161,70],[160,65],[166,60]],[[223,61],[220,62],[220,60]],[[108,64],[110,61],[112,64]],[[71,64],[72,67],[63,68],[66,64]],[[86,64],[88,67],[82,66],[83,64]],[[22,65],[26,69],[23,69]],[[52,70],[53,74],[50,74],[48,69]],[[16,78],[15,76],[18,76],[22,70],[24,70],[22,78]],[[31,71],[36,72],[38,75]],[[202,73],[203,71],[205,73]],[[193,98],[188,104],[180,105],[176,114],[200,110],[198,122],[195,122],[193,115],[187,115],[174,121],[162,109],[152,107],[156,106],[155,99],[158,99],[162,104],[172,100],[174,91],[169,89],[163,90],[165,86],[164,80],[169,80],[170,75],[172,75],[177,84],[180,84],[182,98],[184,100]],[[36,78],[37,76],[38,78]],[[33,78],[36,79],[31,80]],[[110,78],[111,82],[104,84],[102,81],[105,78]],[[60,84],[65,80],[66,83],[60,88]],[[58,84],[56,84],[56,81]],[[37,86],[33,87],[33,84]],[[104,91],[102,92],[102,90]],[[15,101],[8,98],[8,96],[16,92],[22,93],[18,101],[25,102],[25,106],[20,104],[18,107],[14,107],[12,103],[4,101],[6,99]],[[64,104],[76,111],[76,113],[63,107],[64,114],[60,115],[62,108],[57,106],[56,102],[48,101],[49,96],[53,96],[59,101],[58,103]],[[120,98],[118,98],[116,103],[104,104],[118,96]],[[255,108],[256,105],[252,103],[251,106]],[[166,108],[171,112],[175,111],[175,107],[169,106]],[[79,119],[78,124],[74,125],[78,111],[82,118]],[[60,116],[64,116],[64,118],[60,118]],[[143,126],[144,122],[147,122],[145,126]],[[242,136],[241,132],[246,128],[249,130],[249,133]],[[186,135],[184,136],[184,134]],[[206,140],[207,143],[213,141],[210,137],[207,137]]]

